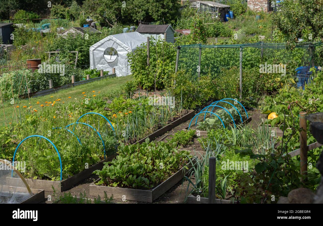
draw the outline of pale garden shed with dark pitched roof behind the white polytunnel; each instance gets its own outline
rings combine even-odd
[[[174,43],[175,30],[171,25],[140,24],[136,32],[146,37],[154,37],[155,39],[162,38],[167,42]]]

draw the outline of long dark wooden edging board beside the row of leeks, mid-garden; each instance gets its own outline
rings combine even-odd
[[[194,110],[185,110],[184,109],[184,110],[182,110],[181,115],[182,115],[182,117],[176,119],[175,121],[173,121],[170,124],[164,126],[163,128],[158,129],[156,132],[153,132],[149,136],[137,141],[136,143],[141,144],[141,143],[145,142],[145,140],[147,138],[149,138],[149,140],[152,141],[153,139],[162,136],[164,133],[170,131],[172,128],[182,124],[183,122],[186,122],[190,118],[193,118],[195,113],[194,113]]]

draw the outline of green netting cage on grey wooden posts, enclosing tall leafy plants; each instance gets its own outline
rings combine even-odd
[[[297,44],[293,50],[286,49],[286,43],[248,43],[234,45],[184,45],[177,46],[175,72],[183,70],[191,74],[192,79],[203,75],[225,77],[227,70],[239,68],[240,99],[242,98],[242,79],[244,70],[255,70],[267,66],[275,66],[281,73],[280,65],[288,76],[295,75],[295,69],[300,66],[322,64],[316,48],[322,42],[304,42]],[[288,66],[288,67],[287,67]],[[279,67],[279,68],[278,68]],[[276,69],[276,68],[274,68]],[[276,70],[275,70],[276,72]],[[260,73],[260,70],[259,70]],[[268,72],[269,73],[269,72]],[[270,70],[272,73],[272,70]],[[244,79],[248,79],[244,77]]]

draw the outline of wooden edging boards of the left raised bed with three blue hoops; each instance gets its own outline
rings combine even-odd
[[[92,172],[97,169],[102,169],[104,164],[103,162],[111,161],[114,159],[116,155],[111,155],[108,158],[98,162],[97,164],[94,164],[89,167],[89,169],[85,169],[82,172],[79,172],[67,179],[59,180],[59,181],[53,181],[53,180],[33,180],[33,179],[25,179],[32,189],[43,189],[45,191],[53,191],[52,186],[56,191],[65,191],[77,184],[78,182],[88,178],[92,175]],[[6,183],[14,183],[15,180],[19,180],[18,178],[12,178],[11,176],[6,178]]]

